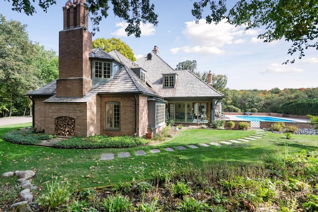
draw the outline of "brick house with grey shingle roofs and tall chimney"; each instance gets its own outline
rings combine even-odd
[[[27,93],[34,129],[59,136],[144,136],[162,130],[167,117],[188,124],[214,119],[224,95],[190,71],[175,71],[157,47],[135,63],[116,50],[92,50],[84,0],[75,1],[63,7],[59,78]]]

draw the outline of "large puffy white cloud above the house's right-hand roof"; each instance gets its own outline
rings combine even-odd
[[[187,37],[189,45],[170,49],[173,54],[179,51],[184,53],[225,54],[222,47],[225,45],[241,44],[247,38],[257,33],[256,30],[244,30],[244,27],[235,27],[225,20],[219,24],[207,24],[205,19],[185,22],[183,34]]]

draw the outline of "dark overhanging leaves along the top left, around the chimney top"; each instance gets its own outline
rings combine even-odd
[[[11,0],[8,0],[11,1]],[[79,2],[79,0],[74,0]],[[83,0],[80,0],[83,1]],[[140,37],[141,29],[140,23],[152,23],[155,26],[158,24],[158,14],[154,12],[155,5],[150,4],[150,0],[111,0],[113,12],[115,16],[127,21],[128,26],[125,31],[127,35],[134,34]],[[35,0],[12,0],[12,10],[24,12],[27,15],[32,15],[36,12],[33,5]],[[99,22],[102,18],[108,16],[108,0],[86,0],[85,6],[91,13],[91,20],[93,22],[93,30],[99,31]],[[47,11],[49,6],[56,4],[56,0],[39,0],[38,5],[43,11]]]

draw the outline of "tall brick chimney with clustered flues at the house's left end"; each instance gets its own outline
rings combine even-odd
[[[57,97],[82,97],[91,89],[89,53],[92,35],[88,31],[85,0],[69,0],[63,7],[63,30],[59,33],[59,79]]]

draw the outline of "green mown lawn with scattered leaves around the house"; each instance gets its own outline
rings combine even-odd
[[[10,130],[25,126],[30,124],[0,126],[0,138]],[[0,171],[31,169],[36,171],[33,183],[39,186],[51,180],[52,176],[58,176],[78,188],[87,188],[150,178],[151,172],[157,169],[171,170],[189,165],[204,168],[209,164],[226,162],[262,164],[264,158],[293,154],[302,149],[316,150],[318,147],[317,136],[293,135],[293,140],[286,140],[283,134],[269,133],[262,139],[233,145],[187,148],[174,152],[163,150],[164,147],[178,145],[235,140],[253,133],[254,130],[182,130],[170,141],[125,149],[55,149],[13,144],[0,139]],[[153,148],[159,148],[161,152],[150,153]],[[134,155],[134,150],[141,149],[148,154]],[[100,160],[102,153],[117,154],[122,151],[129,151],[132,156]],[[0,178],[0,184],[6,181],[8,179]]]

